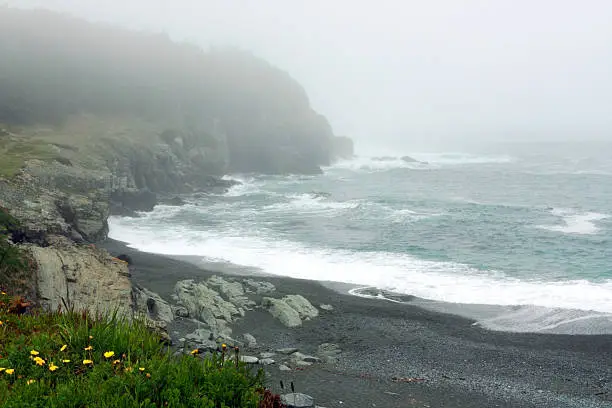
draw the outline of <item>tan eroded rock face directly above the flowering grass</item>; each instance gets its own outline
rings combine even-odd
[[[132,286],[127,266],[113,260],[106,251],[73,245],[63,237],[53,238],[48,247],[27,245],[25,248],[37,264],[42,307],[132,315]]]

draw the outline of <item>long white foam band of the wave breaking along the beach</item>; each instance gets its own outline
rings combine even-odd
[[[146,252],[222,259],[264,272],[347,282],[454,303],[536,305],[612,313],[612,281],[524,281],[453,262],[390,252],[310,248],[265,231],[193,231],[111,217],[110,236]],[[159,225],[159,224],[158,224]]]

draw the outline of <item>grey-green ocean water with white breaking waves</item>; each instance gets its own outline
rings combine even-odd
[[[612,144],[365,153],[323,175],[231,176],[226,194],[112,217],[110,236],[436,301],[612,313]]]

